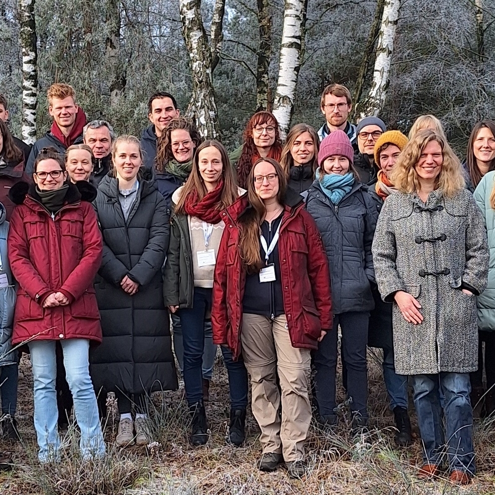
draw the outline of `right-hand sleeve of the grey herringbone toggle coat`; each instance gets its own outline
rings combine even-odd
[[[488,240],[483,216],[471,194],[468,194],[466,210],[466,263],[462,285],[471,291],[474,289],[474,295],[478,296],[488,283]]]

